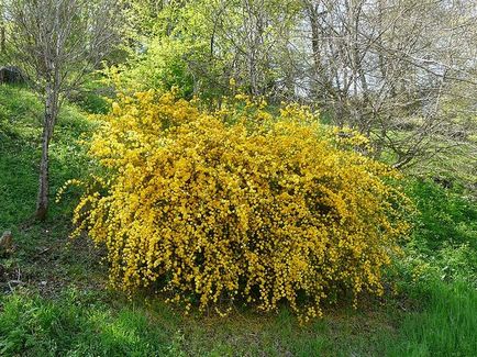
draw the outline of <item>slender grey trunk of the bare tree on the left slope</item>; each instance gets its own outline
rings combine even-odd
[[[48,174],[49,174],[49,141],[53,136],[53,129],[57,114],[57,100],[55,91],[47,86],[46,100],[45,100],[45,118],[43,123],[42,135],[42,159],[40,161],[40,177],[38,177],[38,197],[36,201],[35,216],[44,221],[48,212]]]

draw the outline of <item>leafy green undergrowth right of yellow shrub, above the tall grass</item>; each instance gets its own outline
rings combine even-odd
[[[411,239],[404,257],[395,265],[392,280],[403,290],[421,291],[440,282],[477,287],[477,207],[472,198],[429,180],[409,179],[406,191],[413,198]],[[419,289],[415,289],[415,288]],[[418,297],[418,300],[425,299]]]

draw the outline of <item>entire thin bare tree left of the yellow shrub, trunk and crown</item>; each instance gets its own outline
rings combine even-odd
[[[7,0],[12,58],[44,102],[42,158],[35,216],[48,210],[48,148],[64,100],[119,42],[114,0]]]

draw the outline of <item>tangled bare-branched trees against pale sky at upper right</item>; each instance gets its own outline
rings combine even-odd
[[[396,167],[455,147],[447,138],[461,125],[443,104],[458,100],[454,88],[476,89],[476,10],[467,0],[303,0],[309,99]]]

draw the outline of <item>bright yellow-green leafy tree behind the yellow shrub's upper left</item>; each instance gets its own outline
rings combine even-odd
[[[123,92],[178,87],[190,98],[197,89],[190,63],[207,66],[203,11],[196,1],[134,0],[125,1],[125,9],[129,59],[103,70],[107,82]]]

